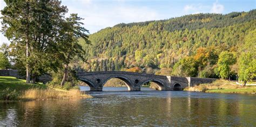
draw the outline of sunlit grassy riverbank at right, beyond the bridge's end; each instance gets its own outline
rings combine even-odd
[[[240,87],[227,80],[216,80],[212,83],[199,84],[198,86],[185,88],[187,91],[200,91],[205,93],[235,93],[255,94],[256,86]]]

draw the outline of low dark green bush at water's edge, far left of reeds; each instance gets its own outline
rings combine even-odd
[[[17,100],[18,99],[18,93],[16,90],[11,91],[9,88],[6,88],[2,91],[1,94],[1,100]]]

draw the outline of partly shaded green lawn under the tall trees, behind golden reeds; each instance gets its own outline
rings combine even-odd
[[[24,91],[30,88],[46,88],[45,84],[27,84],[25,80],[16,77],[0,76],[0,92],[4,89]]]

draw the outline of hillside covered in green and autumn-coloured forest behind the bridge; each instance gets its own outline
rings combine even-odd
[[[167,20],[118,24],[91,34],[83,45],[88,71],[130,71],[196,76],[214,70],[222,51],[238,52],[256,28],[256,10],[226,15],[200,13]],[[192,70],[184,72],[184,62]],[[188,65],[187,65],[188,66]],[[135,69],[135,70],[134,70]],[[216,73],[208,74],[214,77]]]

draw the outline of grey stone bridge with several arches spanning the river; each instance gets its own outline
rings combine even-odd
[[[126,83],[129,91],[139,91],[140,87],[147,82],[155,82],[159,90],[182,90],[200,83],[210,83],[216,79],[197,77],[163,76],[134,72],[78,72],[78,80],[89,85],[91,91],[102,91],[104,84],[117,78]]]

